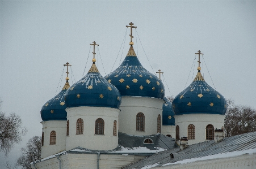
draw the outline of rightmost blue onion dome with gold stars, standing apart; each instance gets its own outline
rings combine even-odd
[[[225,98],[209,86],[200,73],[194,81],[173,100],[175,115],[221,114],[226,112]]]

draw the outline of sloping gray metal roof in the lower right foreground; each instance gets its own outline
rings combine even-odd
[[[189,140],[188,140],[189,141]],[[188,148],[180,150],[179,148],[161,151],[152,156],[141,159],[140,161],[128,164],[123,168],[142,168],[149,164],[159,163],[157,166],[170,162],[182,161],[183,159],[191,159],[214,155],[219,153],[227,153],[232,151],[240,151],[256,148],[256,132],[245,133],[242,135],[225,137],[220,142],[214,140],[200,142],[198,144],[189,145]],[[170,154],[174,154],[174,158],[170,158]]]

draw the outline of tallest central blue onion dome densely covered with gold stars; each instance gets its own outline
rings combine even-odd
[[[147,71],[136,57],[131,46],[123,63],[105,77],[116,86],[121,96],[163,98],[165,88],[162,81]]]

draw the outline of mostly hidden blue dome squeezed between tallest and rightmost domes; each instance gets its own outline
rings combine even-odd
[[[163,103],[163,125],[175,125],[175,119],[174,119],[174,111],[173,107],[171,106],[171,102],[164,97],[163,100],[165,103]]]

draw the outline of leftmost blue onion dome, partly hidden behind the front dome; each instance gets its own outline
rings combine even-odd
[[[42,107],[41,118],[43,121],[66,120],[66,104],[64,98],[66,90],[70,87],[68,80],[69,77],[66,77],[66,83],[61,92],[47,101]]]

